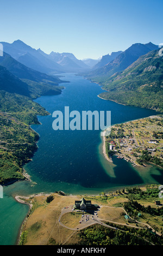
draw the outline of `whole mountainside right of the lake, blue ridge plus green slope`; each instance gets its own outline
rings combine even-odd
[[[104,59],[103,56],[101,62]],[[83,74],[106,91],[99,94],[99,97],[125,105],[163,111],[163,63],[158,45],[151,42],[136,43],[107,64],[103,62],[102,67],[101,62]]]

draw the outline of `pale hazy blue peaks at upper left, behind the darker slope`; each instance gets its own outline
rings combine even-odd
[[[81,72],[90,68],[72,53],[51,52],[48,55],[41,49],[36,50],[21,40],[16,40],[11,44],[1,42],[1,44],[3,44],[4,52],[15,58],[16,61],[42,73],[53,75],[64,72]]]

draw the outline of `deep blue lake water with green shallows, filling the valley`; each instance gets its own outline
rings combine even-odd
[[[70,83],[57,96],[43,96],[35,101],[51,115],[39,116],[41,125],[31,126],[40,135],[38,150],[24,166],[32,182],[16,182],[4,188],[0,199],[0,245],[13,245],[28,206],[17,203],[15,195],[62,190],[68,194],[98,194],[136,184],[163,183],[162,169],[148,166],[134,169],[123,159],[109,163],[102,153],[99,130],[53,130],[53,111],[111,111],[111,125],[158,114],[154,110],[124,106],[98,96],[100,86],[75,74],[64,74]],[[62,80],[64,80],[62,78]]]

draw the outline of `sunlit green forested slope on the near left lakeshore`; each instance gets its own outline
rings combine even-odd
[[[0,91],[0,184],[24,180],[22,165],[37,149],[39,135],[29,124],[49,113],[29,97]]]

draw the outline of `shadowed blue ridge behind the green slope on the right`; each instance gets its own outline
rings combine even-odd
[[[93,70],[88,76],[111,76],[116,72],[121,72],[132,64],[140,56],[145,55],[149,51],[158,49],[158,45],[151,42],[148,44],[136,43],[131,45],[126,51],[123,51],[113,61],[109,62],[102,68]]]

